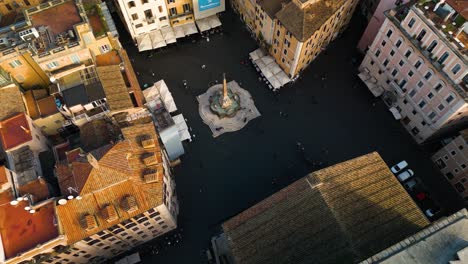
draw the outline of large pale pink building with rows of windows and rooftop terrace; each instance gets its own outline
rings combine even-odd
[[[422,2],[385,12],[359,77],[418,143],[468,115],[468,2]]]

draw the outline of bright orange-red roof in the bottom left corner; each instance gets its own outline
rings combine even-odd
[[[26,201],[10,205],[9,201],[13,199],[11,192],[0,196],[0,236],[7,259],[58,237],[53,202],[36,208],[36,212],[31,214],[24,210],[28,206]]]

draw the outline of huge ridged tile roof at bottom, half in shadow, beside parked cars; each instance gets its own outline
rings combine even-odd
[[[313,172],[222,227],[237,263],[352,263],[428,224],[374,152]]]

